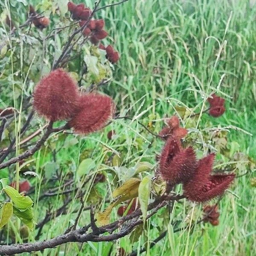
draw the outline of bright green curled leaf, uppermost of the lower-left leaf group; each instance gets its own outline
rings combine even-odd
[[[6,186],[3,189],[9,198],[12,199],[14,206],[20,210],[26,210],[29,207],[32,207],[33,201],[29,196],[20,195],[16,189],[12,188],[11,186]]]

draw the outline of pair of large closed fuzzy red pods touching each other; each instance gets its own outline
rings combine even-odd
[[[34,108],[50,121],[68,120],[70,128],[81,134],[103,128],[115,111],[109,96],[80,95],[78,85],[63,69],[52,71],[37,84]]]

